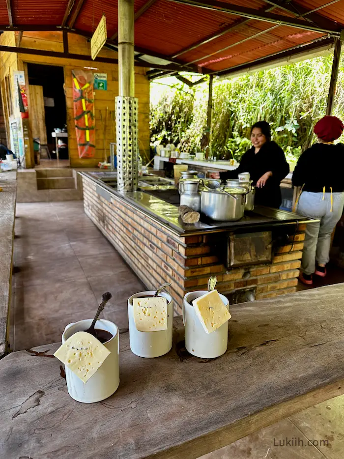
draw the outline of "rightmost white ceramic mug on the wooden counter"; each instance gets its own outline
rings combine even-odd
[[[228,345],[228,320],[211,333],[206,333],[192,305],[193,300],[204,295],[206,290],[186,293],[183,300],[183,323],[185,327],[185,347],[190,354],[203,359],[214,359],[224,354]],[[219,294],[229,310],[229,300]]]

